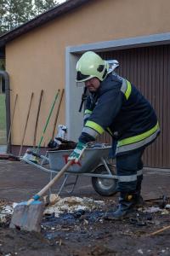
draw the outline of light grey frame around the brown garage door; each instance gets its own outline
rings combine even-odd
[[[77,83],[75,82],[76,64],[82,53],[87,50],[101,52],[162,44],[170,44],[170,32],[65,48],[65,125],[68,128],[69,140],[77,142],[82,131],[83,111],[82,113],[78,112],[82,97],[82,87],[77,87]]]

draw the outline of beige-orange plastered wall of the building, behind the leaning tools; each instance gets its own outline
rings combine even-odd
[[[169,9],[169,0],[94,0],[8,43],[6,67],[10,76],[12,109],[14,96],[19,94],[12,143],[21,143],[33,91],[25,139],[26,145],[32,144],[38,99],[40,90],[44,90],[37,131],[39,141],[54,94],[59,88],[65,88],[66,46],[170,32]],[[54,116],[45,136],[46,144],[53,123]],[[65,124],[65,101],[58,124]]]

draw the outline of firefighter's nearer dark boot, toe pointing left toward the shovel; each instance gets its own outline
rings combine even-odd
[[[119,198],[119,205],[115,212],[107,212],[105,219],[119,220],[127,218],[130,213],[134,212],[136,205],[136,195],[133,193],[122,193]]]

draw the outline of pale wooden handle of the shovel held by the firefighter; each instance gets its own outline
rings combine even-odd
[[[43,189],[41,189],[37,195],[34,195],[33,198],[31,198],[29,201],[27,201],[27,205],[30,205],[32,201],[38,200],[42,195],[46,193],[46,191],[53,186],[54,183],[56,183],[59,180],[59,177],[61,177],[71,166],[72,160],[68,161],[68,163],[59,171],[55,177],[45,186]]]

